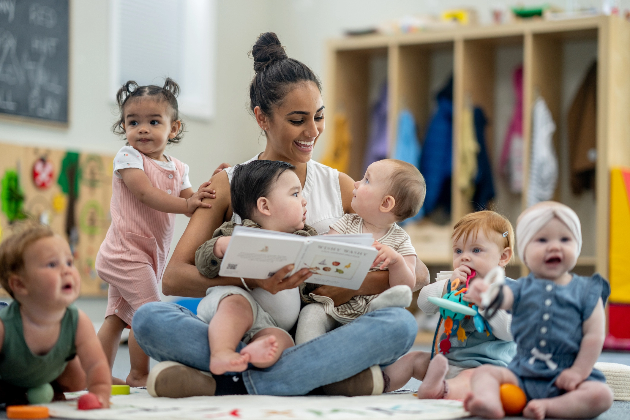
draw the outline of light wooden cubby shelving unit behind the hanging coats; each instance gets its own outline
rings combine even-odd
[[[330,40],[328,43],[328,79],[326,113],[329,116],[343,111],[350,122],[353,157],[348,174],[354,179],[362,177],[365,144],[370,123],[370,60],[387,59],[388,87],[388,139],[393,155],[396,139],[396,121],[399,112],[408,108],[415,115],[423,131],[431,117],[432,99],[436,88],[450,73],[454,76],[453,122],[453,176],[459,171],[458,153],[461,137],[461,115],[467,98],[481,106],[489,124],[486,142],[493,170],[503,132],[496,129],[498,115],[505,111],[498,107],[496,69],[506,48],[512,48],[522,57],[524,67],[524,193],[502,193],[496,187],[501,183],[495,173],[496,204],[509,213],[515,222],[518,213],[527,203],[527,179],[530,155],[531,110],[534,99],[540,94],[547,102],[558,129],[554,135],[561,156],[566,112],[563,98],[566,84],[563,65],[571,65],[571,42],[597,45],[597,168],[596,188],[592,200],[583,199],[575,204],[568,191],[566,159],[559,159],[561,177],[556,200],[575,208],[583,225],[585,245],[578,261],[582,270],[608,273],[609,244],[609,179],[610,168],[630,166],[630,23],[616,16],[595,16],[576,20],[532,20],[513,25],[461,26],[451,30],[423,31],[408,35],[368,35]],[[521,52],[522,51],[522,52]],[[503,54],[503,55],[501,55]],[[569,59],[567,58],[569,57]],[[569,60],[569,61],[567,61]],[[440,67],[440,65],[442,67]],[[583,77],[583,76],[582,76]],[[581,81],[580,81],[581,82]],[[564,96],[563,96],[564,95]],[[565,100],[566,102],[566,100]],[[495,115],[497,117],[495,118]],[[329,130],[328,135],[330,135]],[[564,165],[564,167],[562,167]],[[407,225],[420,258],[427,265],[450,264],[450,232],[452,223],[472,210],[454,181],[451,186],[452,209],[450,224],[439,226],[423,221]],[[517,262],[517,264],[520,264]],[[522,266],[522,271],[526,268]]]

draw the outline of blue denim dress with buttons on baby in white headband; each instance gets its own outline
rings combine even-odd
[[[610,285],[599,274],[573,275],[568,285],[536,278],[533,273],[507,284],[514,293],[512,334],[517,355],[508,369],[518,377],[527,399],[550,398],[566,392],[556,387],[558,375],[575,361],[582,340],[582,323],[597,300],[605,305]],[[586,380],[606,382],[593,369]]]

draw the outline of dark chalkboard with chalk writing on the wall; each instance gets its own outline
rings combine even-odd
[[[68,120],[68,0],[0,0],[0,113]]]

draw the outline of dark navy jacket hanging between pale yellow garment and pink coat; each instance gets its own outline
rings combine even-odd
[[[473,205],[475,210],[487,210],[490,200],[495,198],[495,186],[492,180],[492,169],[488,151],[486,150],[486,123],[488,119],[481,108],[474,109],[474,130],[479,143],[477,154],[477,178]]]

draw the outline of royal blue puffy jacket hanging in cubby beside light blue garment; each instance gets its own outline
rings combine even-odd
[[[437,94],[437,111],[427,128],[422,146],[420,172],[427,182],[425,215],[438,205],[450,212],[450,179],[453,169],[453,78]]]

